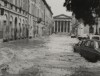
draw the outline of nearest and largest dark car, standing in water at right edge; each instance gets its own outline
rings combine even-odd
[[[86,40],[79,47],[81,56],[91,62],[97,62],[100,59],[100,41]]]

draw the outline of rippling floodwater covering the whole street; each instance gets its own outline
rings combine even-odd
[[[73,52],[77,39],[52,35],[0,44],[2,76],[100,76],[100,61],[91,63]]]

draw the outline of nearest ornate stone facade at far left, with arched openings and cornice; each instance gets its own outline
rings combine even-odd
[[[4,41],[28,37],[28,0],[20,1],[0,1],[0,38]]]

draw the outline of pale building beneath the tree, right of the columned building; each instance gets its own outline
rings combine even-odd
[[[94,35],[97,32],[99,32],[99,24],[98,25],[84,25],[83,22],[78,21],[75,18],[75,15],[72,16],[72,34],[74,34],[76,37],[78,36],[89,36],[90,34]],[[97,29],[96,29],[97,28]]]

